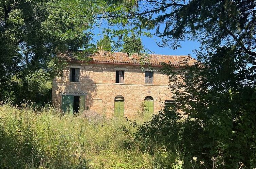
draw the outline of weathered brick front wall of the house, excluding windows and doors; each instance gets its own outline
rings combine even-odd
[[[70,68],[80,68],[79,82],[69,81]],[[53,80],[52,103],[61,108],[61,95],[86,95],[85,107],[99,114],[112,116],[114,98],[125,99],[125,116],[133,117],[146,96],[154,99],[154,112],[162,107],[160,102],[170,100],[168,76],[162,75],[158,67],[154,70],[153,84],[145,84],[145,72],[136,65],[116,64],[70,64],[63,76]],[[115,83],[116,70],[124,70],[124,84]],[[148,70],[148,69],[145,69]]]

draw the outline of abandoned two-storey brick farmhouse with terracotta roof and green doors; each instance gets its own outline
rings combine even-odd
[[[169,77],[160,72],[161,63],[173,68],[190,56],[146,55],[97,52],[91,61],[79,61],[61,54],[68,61],[63,76],[53,79],[52,104],[64,112],[91,110],[106,116],[134,117],[144,105],[156,113],[171,104]],[[144,69],[143,69],[143,68]]]

